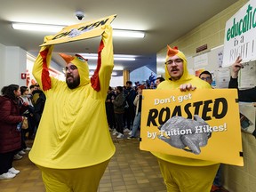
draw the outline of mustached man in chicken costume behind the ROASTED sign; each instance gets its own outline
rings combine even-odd
[[[177,47],[172,49],[167,45],[165,61],[165,81],[158,84],[157,90],[180,89],[181,92],[186,92],[212,89],[210,84],[188,74],[186,56]],[[158,152],[152,152],[152,154],[157,157],[167,191],[208,192],[211,190],[219,163]]]

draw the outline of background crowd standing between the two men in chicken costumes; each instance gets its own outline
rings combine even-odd
[[[151,74],[152,75],[152,74]],[[156,83],[155,83],[156,80]],[[143,89],[156,89],[157,85],[164,81],[164,77],[157,77],[154,85],[127,81],[125,86],[112,88],[109,86],[106,99],[106,113],[109,130],[117,139],[124,138],[124,132],[128,132],[128,140],[140,137],[140,113]]]

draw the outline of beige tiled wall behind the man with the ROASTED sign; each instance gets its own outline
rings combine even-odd
[[[187,35],[169,44],[172,47],[178,46],[187,57],[195,56],[196,48],[203,44],[208,45],[207,50],[224,44],[226,21],[247,2],[247,0],[239,0],[236,4],[231,5],[228,9],[212,17],[212,19],[194,28]],[[163,50],[157,52],[157,76],[164,76],[165,55],[165,47]],[[249,133],[243,132],[242,136],[244,167],[224,164],[222,172],[223,186],[229,192],[256,192],[256,139]]]

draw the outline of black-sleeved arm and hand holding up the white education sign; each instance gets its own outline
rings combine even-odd
[[[237,57],[235,63],[231,66],[231,77],[228,83],[228,88],[236,88],[238,91],[238,100],[244,102],[256,102],[256,86],[251,89],[239,90],[238,89],[238,72],[242,65],[242,58]]]

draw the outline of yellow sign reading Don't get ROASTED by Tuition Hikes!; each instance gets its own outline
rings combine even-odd
[[[143,90],[140,149],[243,165],[235,89]]]

